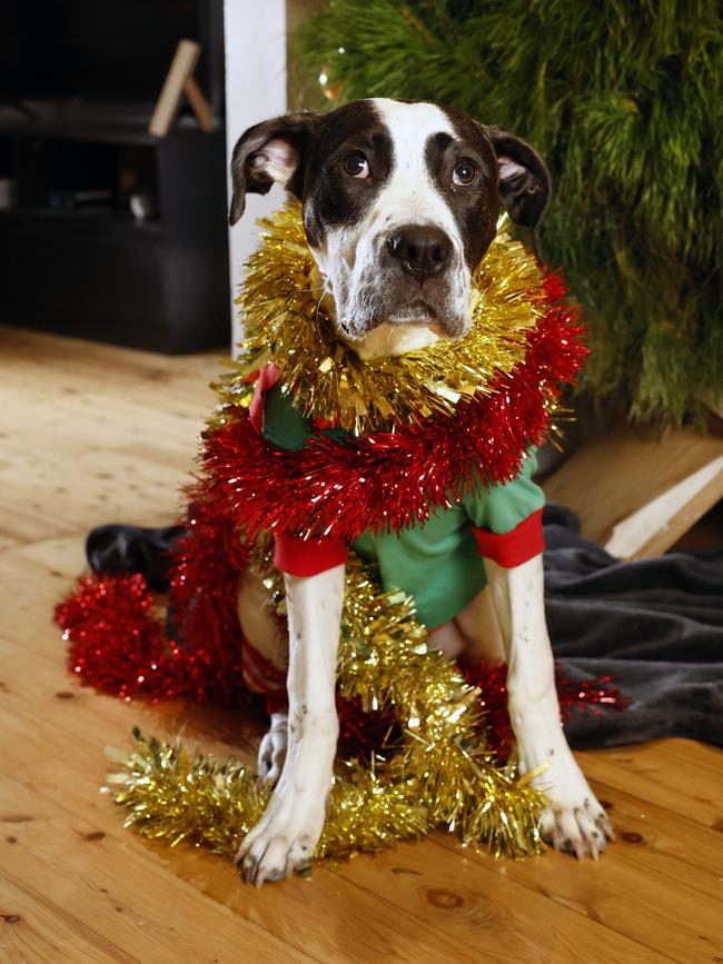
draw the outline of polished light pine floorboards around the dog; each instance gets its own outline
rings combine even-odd
[[[246,761],[258,738],[80,687],[51,622],[90,526],[174,517],[216,369],[0,328],[0,961],[723,961],[723,754],[682,739],[578,755],[618,833],[597,864],[437,834],[256,891],[121,828],[103,747],[135,724]]]

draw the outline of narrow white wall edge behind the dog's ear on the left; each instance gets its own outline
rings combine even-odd
[[[240,135],[259,120],[286,111],[285,0],[225,0],[226,152],[230,162]],[[231,186],[228,183],[230,202]],[[284,198],[274,187],[268,195],[249,195],[246,213],[229,230],[231,297],[238,292],[245,260],[256,248],[255,221],[270,213]],[[231,305],[234,342],[240,338],[238,309]]]

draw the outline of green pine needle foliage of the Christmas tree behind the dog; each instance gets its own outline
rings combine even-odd
[[[338,102],[456,105],[541,151],[601,403],[680,423],[723,397],[719,0],[331,0],[297,42]]]

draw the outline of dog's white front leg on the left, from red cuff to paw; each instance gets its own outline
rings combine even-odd
[[[247,883],[306,863],[321,834],[338,736],[335,704],[344,566],[285,576],[289,624],[288,749],[266,813],[237,854]]]

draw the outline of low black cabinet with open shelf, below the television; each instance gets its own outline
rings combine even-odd
[[[0,320],[168,354],[228,345],[222,129],[0,119]]]

